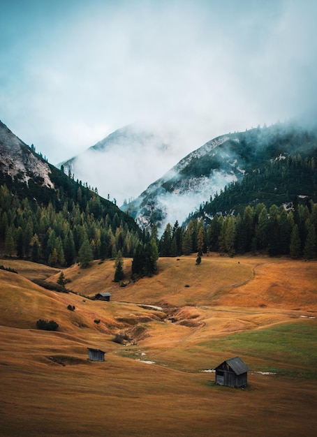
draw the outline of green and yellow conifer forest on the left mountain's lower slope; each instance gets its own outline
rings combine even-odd
[[[28,198],[13,195],[0,187],[0,242],[8,256],[45,262],[53,267],[68,267],[74,262],[87,265],[93,259],[116,258],[118,251],[132,257],[147,234],[125,221],[115,205],[109,209],[101,198],[78,187],[80,202],[64,200],[61,210],[52,202],[38,205]],[[108,202],[110,203],[110,202]],[[128,216],[126,216],[128,218]],[[132,224],[133,223],[133,224]]]

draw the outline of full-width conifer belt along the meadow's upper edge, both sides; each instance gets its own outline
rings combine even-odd
[[[78,193],[80,195],[80,193]],[[214,214],[192,218],[188,225],[165,226],[158,238],[156,225],[150,232],[131,228],[110,217],[91,193],[82,209],[76,202],[64,202],[58,211],[52,203],[36,205],[0,187],[0,242],[8,256],[45,262],[52,267],[82,267],[94,259],[116,259],[115,281],[123,279],[122,258],[133,258],[134,276],[157,272],[158,256],[179,256],[216,251],[229,255],[267,252],[269,255],[317,255],[317,204],[294,198],[289,209],[263,203],[248,205],[243,214]],[[99,210],[100,209],[100,210]],[[98,214],[94,212],[98,211]],[[118,210],[119,211],[119,210]]]

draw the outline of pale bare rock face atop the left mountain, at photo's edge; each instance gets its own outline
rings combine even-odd
[[[54,184],[50,180],[48,164],[17,138],[1,121],[0,172],[26,183],[31,178],[40,177],[43,179],[43,186],[54,188]]]

